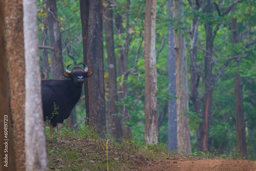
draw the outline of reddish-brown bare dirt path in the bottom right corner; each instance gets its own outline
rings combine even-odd
[[[223,171],[238,171],[251,170],[256,171],[256,161],[247,160],[166,160],[161,162],[147,161],[145,165],[137,167],[134,170],[191,170],[191,171],[205,171],[205,170],[223,170]]]

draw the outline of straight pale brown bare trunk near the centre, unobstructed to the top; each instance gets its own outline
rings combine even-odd
[[[145,9],[145,142],[158,142],[157,126],[157,66],[156,66],[157,0],[146,1]]]

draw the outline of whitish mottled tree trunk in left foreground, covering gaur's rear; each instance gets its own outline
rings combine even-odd
[[[42,116],[41,80],[37,38],[37,5],[24,0],[24,44],[26,61],[25,149],[26,170],[48,170],[46,136]]]

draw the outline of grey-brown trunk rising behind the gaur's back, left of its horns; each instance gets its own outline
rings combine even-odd
[[[61,79],[64,78],[62,76],[63,59],[56,0],[46,1],[46,8],[49,28],[49,42],[50,46],[54,48],[54,50],[51,51],[52,78]]]

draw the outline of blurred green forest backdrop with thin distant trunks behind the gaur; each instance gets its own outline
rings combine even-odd
[[[199,3],[199,4],[198,4]],[[246,138],[246,148],[248,155],[256,155],[254,142],[256,140],[255,108],[255,22],[256,12],[254,1],[215,1],[211,3],[211,8],[204,8],[200,1],[184,1],[184,21],[168,16],[168,1],[157,2],[156,14],[156,63],[157,63],[157,117],[158,117],[158,141],[166,144],[168,142],[168,105],[169,100],[177,99],[175,94],[168,91],[168,27],[173,26],[174,32],[183,32],[186,45],[186,60],[188,71],[188,96],[189,108],[184,111],[189,115],[191,151],[196,152],[200,147],[197,143],[197,131],[200,123],[205,122],[204,104],[206,103],[205,92],[207,84],[207,58],[205,54],[210,54],[210,91],[212,100],[210,108],[209,137],[207,146],[209,151],[215,149],[220,154],[237,153],[237,131],[236,131],[236,106],[243,109],[244,129]],[[38,38],[41,46],[49,46],[47,33],[47,12],[46,4],[37,1],[38,7]],[[205,3],[207,5],[207,3]],[[81,31],[81,14],[79,1],[56,1],[57,19],[61,33],[63,66],[72,63],[78,65],[83,61],[83,36]],[[124,116],[123,129],[131,134],[138,143],[144,143],[144,103],[145,103],[145,67],[144,67],[144,26],[145,26],[145,1],[103,1],[103,22],[108,22],[106,17],[106,7],[113,7],[114,15],[114,48],[117,64],[117,101],[119,112],[116,116]],[[197,8],[198,7],[198,8]],[[231,8],[230,8],[231,7]],[[211,9],[207,11],[207,9]],[[196,28],[193,30],[196,18]],[[234,22],[236,20],[236,22]],[[171,24],[171,25],[170,25]],[[212,50],[207,47],[207,28],[212,27]],[[193,26],[193,27],[192,27]],[[236,29],[237,27],[237,29]],[[121,28],[121,29],[118,29]],[[192,29],[191,29],[192,28]],[[196,46],[193,47],[193,35],[198,34]],[[234,41],[234,35],[237,40]],[[110,75],[108,65],[108,55],[106,46],[106,32],[103,24],[103,58],[104,58],[104,87],[105,87],[105,111],[107,132],[110,130]],[[129,42],[129,44],[127,44]],[[209,45],[209,44],[208,44]],[[41,47],[42,48],[42,47]],[[47,47],[45,47],[47,48]],[[196,48],[196,58],[193,58],[193,48]],[[208,49],[207,49],[208,48]],[[121,61],[122,50],[127,50],[127,61]],[[45,49],[44,49],[45,51]],[[50,49],[48,47],[48,64],[51,64]],[[40,66],[42,78],[53,78],[50,68],[45,68],[43,52],[40,51]],[[196,59],[196,61],[195,61]],[[193,62],[196,68],[193,68]],[[194,63],[194,64],[195,64]],[[88,63],[87,63],[88,64]],[[124,66],[123,66],[124,65]],[[125,67],[125,65],[127,65]],[[51,66],[50,66],[51,67]],[[90,65],[88,65],[90,69]],[[195,67],[195,65],[194,65]],[[132,70],[130,70],[132,69]],[[196,88],[193,81],[196,69]],[[129,71],[127,73],[127,71]],[[240,78],[242,96],[240,102],[243,106],[235,103],[234,78]],[[88,79],[88,82],[91,78]],[[206,83],[205,83],[206,82]],[[127,89],[126,95],[123,89]],[[199,99],[201,111],[196,110],[195,92]],[[72,125],[77,129],[77,123],[84,124],[87,120],[84,108],[84,92],[80,101],[72,111]],[[241,104],[241,103],[240,103]],[[125,107],[124,107],[125,106]],[[126,108],[126,109],[124,109]],[[124,110],[125,114],[120,112]],[[112,115],[112,114],[111,114]],[[71,120],[72,120],[71,119]],[[76,122],[77,121],[77,122]],[[208,121],[207,121],[208,122]],[[131,132],[129,132],[131,130]],[[126,135],[127,136],[127,135]],[[126,137],[125,136],[125,137]],[[200,150],[199,150],[200,151]],[[201,150],[203,151],[203,149]]]

